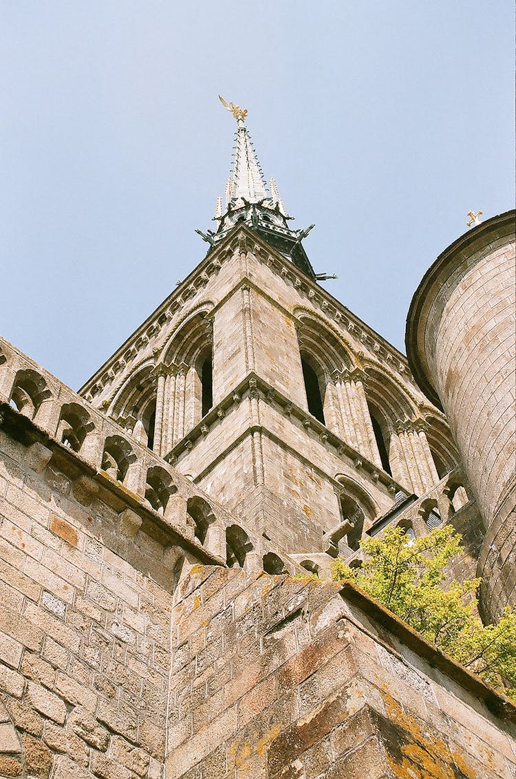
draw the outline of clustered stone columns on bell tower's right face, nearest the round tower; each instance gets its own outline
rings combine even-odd
[[[437,484],[439,476],[426,439],[426,422],[398,421],[391,435],[389,462],[392,476],[416,495]]]

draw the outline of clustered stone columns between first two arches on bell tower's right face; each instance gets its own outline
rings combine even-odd
[[[342,416],[342,438],[367,460],[381,466],[364,389],[365,374],[360,368],[335,372],[335,390]]]

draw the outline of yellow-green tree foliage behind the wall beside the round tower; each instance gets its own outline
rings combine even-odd
[[[496,625],[483,626],[476,616],[480,580],[459,583],[446,573],[448,562],[462,550],[461,536],[452,527],[416,540],[391,527],[360,547],[362,567],[352,569],[336,559],[334,580],[351,580],[465,668],[516,696],[516,609],[506,609]]]

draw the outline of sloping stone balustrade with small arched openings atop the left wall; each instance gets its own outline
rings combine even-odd
[[[269,573],[297,570],[286,553],[256,538],[166,460],[143,446],[137,431],[128,432],[93,407],[16,347],[0,340],[0,426],[9,432],[23,419],[44,436],[30,442],[30,467],[43,471],[59,450],[58,461],[72,459],[82,467],[75,474],[74,494],[85,505],[97,495],[97,482],[126,504],[120,512],[122,534],[135,538],[142,513],[170,538],[170,562],[185,558]],[[71,471],[71,472],[72,472]],[[175,562],[174,562],[175,561]]]

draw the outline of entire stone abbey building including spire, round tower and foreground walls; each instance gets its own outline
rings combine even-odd
[[[434,263],[409,364],[225,105],[204,259],[79,393],[0,340],[0,774],[506,779],[511,702],[329,579],[448,523],[483,616],[514,603],[514,213]]]

